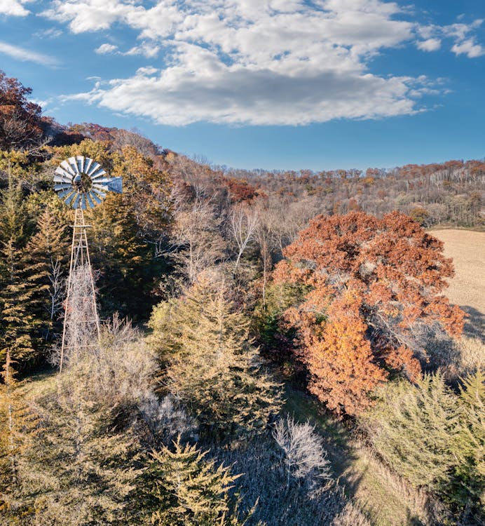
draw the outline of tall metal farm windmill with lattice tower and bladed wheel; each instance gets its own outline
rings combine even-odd
[[[71,263],[64,305],[64,328],[59,370],[67,349],[95,348],[100,339],[100,318],[96,307],[95,280],[88,248],[83,210],[102,203],[108,191],[121,194],[121,177],[109,177],[100,163],[78,155],[62,161],[55,170],[54,189],[64,203],[74,208]],[[69,341],[67,341],[69,335]]]

